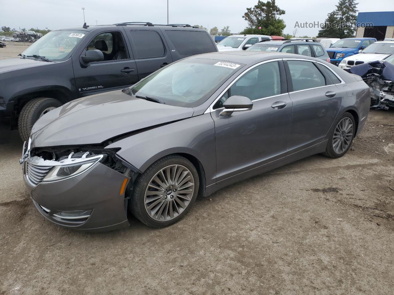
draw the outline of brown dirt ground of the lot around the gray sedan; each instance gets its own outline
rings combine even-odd
[[[393,294],[394,111],[371,111],[344,157],[234,184],[164,229],[53,225],[21,148],[0,146],[0,294]]]

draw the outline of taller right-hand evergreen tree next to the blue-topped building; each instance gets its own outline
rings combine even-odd
[[[336,5],[336,18],[340,22],[338,38],[354,37],[357,20],[356,0],[340,0]]]

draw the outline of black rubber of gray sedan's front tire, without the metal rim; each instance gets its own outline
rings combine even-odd
[[[191,172],[191,175],[194,179],[194,192],[191,197],[190,203],[177,217],[169,221],[157,221],[154,220],[145,210],[145,191],[147,190],[148,184],[150,183],[152,177],[154,177],[154,175],[158,173],[158,171],[174,164],[182,165]],[[138,177],[136,183],[134,184],[132,197],[128,202],[128,208],[132,212],[132,214],[145,225],[155,228],[167,227],[176,223],[179,219],[183,218],[188,213],[197,198],[198,190],[199,176],[194,165],[185,157],[177,154],[165,156],[154,162],[151,166],[149,166],[149,168],[147,168],[147,170],[145,170],[145,172],[143,172]]]

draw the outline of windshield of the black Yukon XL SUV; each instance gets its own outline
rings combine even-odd
[[[50,31],[22,54],[27,57],[41,55],[50,61],[65,61],[74,47],[84,38],[85,33],[85,31]]]

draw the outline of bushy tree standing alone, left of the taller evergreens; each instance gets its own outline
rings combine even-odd
[[[257,5],[246,9],[242,18],[248,23],[248,28],[242,34],[282,35],[286,24],[279,18],[285,11],[280,9],[275,0],[263,2],[258,0]]]

